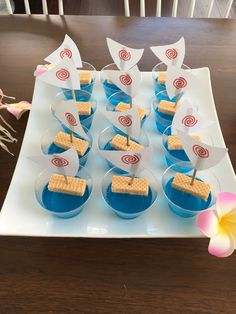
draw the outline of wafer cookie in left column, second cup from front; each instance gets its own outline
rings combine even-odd
[[[71,143],[70,135],[62,131],[57,133],[57,135],[54,137],[53,142],[56,146],[64,149],[69,149],[74,146],[80,156],[84,156],[89,146],[89,143],[87,141],[77,138],[75,136],[73,136],[73,142]]]

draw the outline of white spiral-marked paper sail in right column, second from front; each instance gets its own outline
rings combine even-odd
[[[178,109],[174,115],[171,125],[171,133],[176,135],[177,130],[180,130],[188,134],[193,134],[201,132],[213,123],[213,121],[202,116],[196,108],[187,104]]]

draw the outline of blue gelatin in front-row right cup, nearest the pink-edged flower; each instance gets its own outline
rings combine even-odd
[[[174,178],[170,179],[169,182],[166,184],[165,194],[172,201],[172,203],[183,208],[183,210],[181,210],[180,208],[169,203],[169,208],[176,215],[184,217],[184,218],[190,218],[190,217],[196,216],[198,212],[210,207],[211,200],[212,200],[211,193],[209,194],[207,201],[204,201],[203,199],[199,197],[196,197],[194,195],[191,195],[191,194],[188,194],[188,193],[185,193],[183,191],[173,188],[172,187],[173,179]],[[191,212],[188,213],[188,210]],[[196,211],[196,214],[192,213],[194,211]]]

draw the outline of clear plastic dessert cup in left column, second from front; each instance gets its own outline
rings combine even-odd
[[[66,150],[64,148],[56,146],[53,143],[54,137],[60,131],[65,132],[65,130],[62,130],[59,126],[57,126],[57,127],[53,127],[53,128],[46,130],[46,132],[43,134],[42,139],[41,139],[41,150],[44,154],[46,154],[46,155],[60,154]],[[65,132],[65,133],[69,134],[70,132]],[[92,143],[93,143],[93,139],[92,139],[90,132],[87,130],[86,133],[89,137],[89,140],[88,140],[89,147],[83,156],[78,155],[80,166],[85,166],[87,159],[88,159],[88,156],[89,156],[89,153],[90,153],[90,150],[91,150],[91,147],[92,147]],[[76,138],[83,139],[77,134],[74,134],[73,136]]]

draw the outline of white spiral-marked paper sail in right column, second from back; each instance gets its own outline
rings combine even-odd
[[[168,66],[166,74],[166,91],[170,99],[173,97],[191,90],[198,88],[200,81],[190,70],[183,70],[176,66]]]

